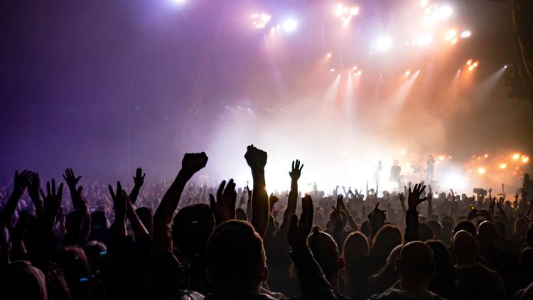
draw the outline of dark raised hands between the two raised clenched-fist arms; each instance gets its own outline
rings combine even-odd
[[[217,224],[227,220],[235,219],[235,202],[237,201],[237,192],[235,191],[235,183],[233,179],[230,181],[222,181],[217,191],[217,199],[212,194],[209,194],[209,203],[212,214],[215,215]]]

